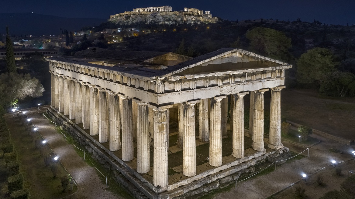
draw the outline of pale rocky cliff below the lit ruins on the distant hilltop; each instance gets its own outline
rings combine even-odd
[[[110,22],[120,25],[130,25],[135,23],[145,24],[194,24],[194,23],[216,23],[217,17],[199,16],[192,12],[124,12],[110,16]]]

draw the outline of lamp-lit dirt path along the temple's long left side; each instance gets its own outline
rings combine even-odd
[[[42,112],[45,112],[46,109],[47,107],[41,107]],[[27,109],[26,111],[26,115],[38,127],[39,133],[47,140],[63,166],[78,184],[78,191],[75,193],[78,199],[119,198],[105,189],[106,184],[101,182],[95,169],[83,161],[73,149],[74,146],[65,142],[64,137],[56,132],[54,126],[49,124],[48,119],[43,118],[42,114],[38,114],[38,108]],[[16,117],[16,114],[8,114],[6,117]]]

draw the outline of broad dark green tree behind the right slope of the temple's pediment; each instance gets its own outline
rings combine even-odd
[[[290,58],[288,49],[291,47],[291,39],[283,32],[257,27],[249,30],[246,37],[250,40],[251,49],[262,55],[282,61]]]

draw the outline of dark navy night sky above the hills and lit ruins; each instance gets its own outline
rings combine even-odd
[[[173,11],[184,7],[211,11],[212,16],[229,20],[279,19],[313,22],[316,19],[326,24],[355,24],[354,0],[2,0],[0,13],[34,12],[60,17],[83,17],[108,19],[115,13],[132,11],[138,7],[169,5]]]

